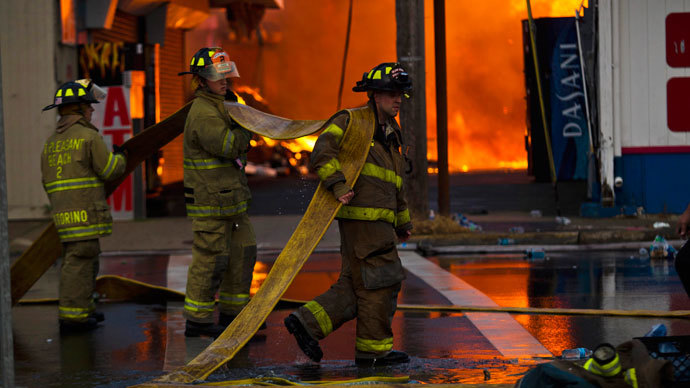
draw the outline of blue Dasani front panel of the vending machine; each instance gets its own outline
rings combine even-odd
[[[575,18],[560,25],[551,56],[551,147],[559,180],[587,179],[589,128]]]

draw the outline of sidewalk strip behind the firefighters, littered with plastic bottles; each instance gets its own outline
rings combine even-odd
[[[561,213],[569,224],[556,221],[553,188],[536,183],[522,172],[484,172],[452,174],[451,213],[463,213],[482,227],[482,232],[422,236],[415,233],[411,243],[421,245],[498,245],[498,239],[513,239],[513,244],[606,244],[630,241],[649,242],[658,234],[674,240],[678,215],[641,215],[638,217],[577,217],[584,196],[584,182],[559,185]],[[280,179],[250,177],[252,206],[249,216],[256,231],[259,250],[278,251],[288,241],[318,185],[315,177]],[[429,178],[429,207],[435,206],[436,180]],[[184,217],[181,193],[165,197],[166,208],[177,209],[176,217],[149,218],[141,221],[116,221],[112,236],[101,240],[104,252],[191,251],[191,221]],[[532,211],[543,215],[532,216]],[[666,222],[666,228],[654,228]],[[43,221],[10,221],[9,240],[12,257],[17,257],[48,225]],[[337,222],[331,225],[317,250],[337,250],[340,245]],[[510,233],[522,228],[523,233]]]

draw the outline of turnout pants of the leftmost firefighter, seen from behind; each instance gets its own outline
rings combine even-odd
[[[58,316],[61,320],[85,321],[95,308],[100,243],[98,239],[66,242],[62,250]]]

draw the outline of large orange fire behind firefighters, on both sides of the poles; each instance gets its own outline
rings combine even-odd
[[[581,0],[533,0],[535,18],[574,16]],[[238,64],[239,83],[260,88],[273,113],[325,119],[335,113],[349,2],[286,0],[267,10],[256,37],[229,32],[216,10],[188,35],[187,56],[221,44]],[[587,2],[585,1],[585,5]],[[433,1],[425,1],[428,158],[436,160]],[[448,149],[452,172],[525,169],[525,87],[521,20],[525,0],[446,1]],[[343,106],[363,104],[351,86],[396,58],[395,0],[355,1]],[[313,139],[299,147],[309,147]],[[291,147],[298,147],[291,145]],[[310,150],[310,148],[309,148]],[[432,170],[433,172],[433,170]]]

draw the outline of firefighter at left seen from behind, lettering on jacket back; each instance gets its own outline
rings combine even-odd
[[[67,82],[55,93],[53,104],[60,120],[41,152],[43,187],[52,206],[64,261],[60,271],[60,330],[88,331],[104,320],[93,298],[98,239],[112,231],[104,182],[125,170],[123,153],[111,153],[98,128],[91,124],[93,108],[105,93],[88,80]]]

